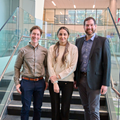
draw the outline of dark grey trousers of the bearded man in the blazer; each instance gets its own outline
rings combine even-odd
[[[83,74],[81,74],[78,90],[85,110],[85,120],[100,120],[100,90],[91,90],[87,83],[87,76]]]

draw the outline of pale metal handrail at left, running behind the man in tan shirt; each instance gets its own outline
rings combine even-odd
[[[20,42],[23,40],[22,38],[30,38],[30,36],[22,36],[22,37],[20,38],[20,40],[18,41],[18,43],[17,43],[17,45],[16,45],[16,47],[15,47],[15,49],[14,49],[14,51],[13,51],[11,57],[10,57],[10,59],[8,60],[6,66],[5,66],[3,72],[2,72],[2,74],[1,74],[1,76],[0,76],[0,81],[1,81],[1,79],[3,78],[3,76],[4,76],[4,74],[5,74],[5,71],[7,70],[8,65],[10,64],[10,61],[11,61],[13,55],[15,54],[15,52],[16,52],[16,50],[17,50],[19,44],[20,44]],[[54,40],[54,39],[45,39],[45,38],[41,38],[40,40],[52,40],[52,41],[58,41],[58,40]]]

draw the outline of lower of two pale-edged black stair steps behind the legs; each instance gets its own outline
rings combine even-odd
[[[20,101],[11,101],[8,105],[8,114],[9,115],[20,115],[22,104]],[[102,120],[109,120],[107,107],[100,107],[100,116]],[[33,115],[33,105],[30,107],[30,116]],[[42,117],[50,118],[51,117],[51,104],[43,102],[42,105]],[[84,119],[84,109],[82,105],[71,104],[70,106],[70,119]],[[104,118],[104,119],[103,119]]]

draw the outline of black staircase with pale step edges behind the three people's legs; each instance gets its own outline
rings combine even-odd
[[[16,90],[13,91],[13,100],[7,107],[8,115],[4,120],[20,120],[21,111],[21,96]],[[33,114],[33,105],[31,104],[29,115]],[[100,118],[101,120],[109,120],[109,115],[106,106],[105,96],[100,99]],[[30,117],[29,120],[32,120]],[[51,104],[49,90],[46,90],[43,98],[42,105],[42,118],[41,120],[51,120]],[[84,120],[84,110],[81,105],[81,99],[77,90],[73,91],[71,106],[70,106],[70,120]]]

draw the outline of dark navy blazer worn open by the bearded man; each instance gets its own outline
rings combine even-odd
[[[77,86],[80,81],[81,67],[81,48],[84,43],[84,37],[76,40],[78,47],[78,63],[75,71],[75,81]],[[111,54],[109,40],[105,37],[95,36],[91,48],[89,61],[87,65],[87,82],[90,89],[100,89],[102,85],[109,86],[111,71]]]

